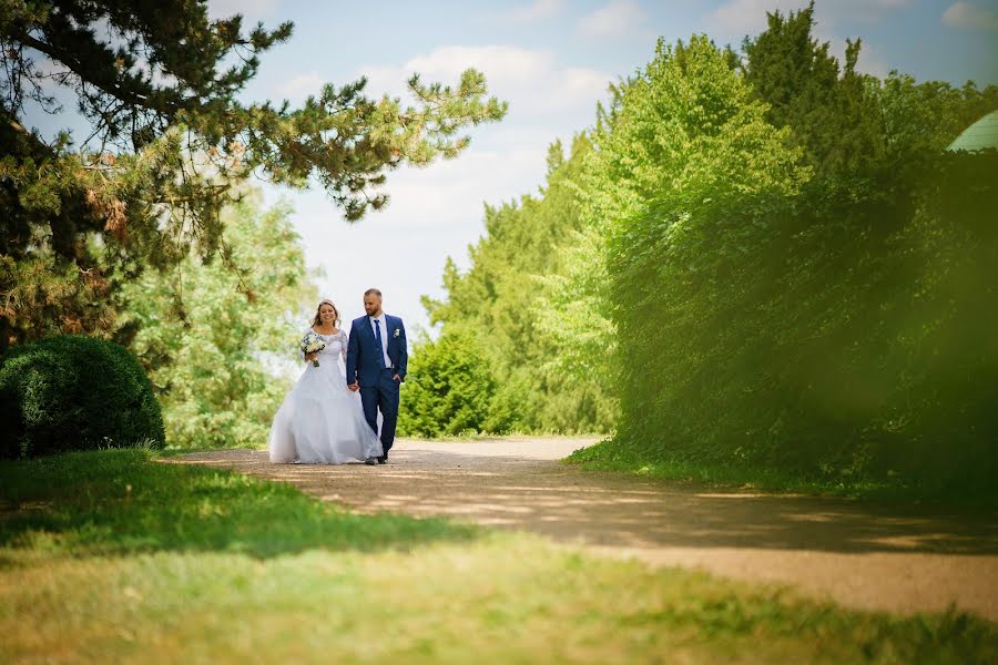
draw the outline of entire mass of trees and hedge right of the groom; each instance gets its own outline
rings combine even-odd
[[[808,6],[742,54],[660,43],[539,197],[487,211],[429,305],[495,349],[518,428],[611,429],[599,395],[620,417],[593,464],[994,484],[998,178],[944,151],[998,86],[879,80],[813,31]]]

